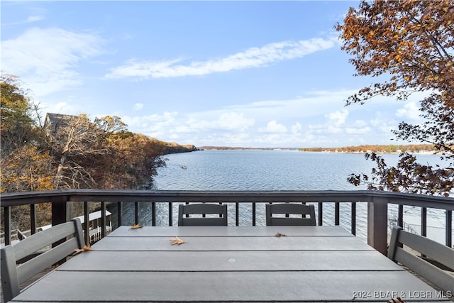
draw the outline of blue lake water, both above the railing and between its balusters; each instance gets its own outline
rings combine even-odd
[[[297,150],[201,150],[193,153],[166,155],[167,167],[161,167],[155,177],[155,187],[160,190],[358,190],[347,182],[350,173],[370,173],[373,163],[362,154],[346,153],[301,153]],[[385,155],[389,165],[398,160],[398,155]],[[438,156],[419,155],[421,162],[434,164]],[[166,204],[158,204],[157,224],[168,224]],[[250,225],[248,205],[241,206],[240,224]],[[358,204],[357,235],[366,235],[367,210]],[[159,209],[162,208],[162,215]],[[323,206],[323,224],[333,225],[333,204]],[[258,204],[259,219],[265,206]],[[404,209],[406,216],[419,216],[420,210],[411,206]],[[396,209],[390,206],[389,218]],[[140,211],[142,222],[150,225],[150,213],[146,204]],[[341,204],[341,225],[350,230],[350,204]],[[175,206],[174,214],[177,214]],[[229,222],[234,224],[233,205],[229,209]],[[435,224],[444,226],[444,212],[428,209]],[[130,218],[130,220],[132,220]],[[176,218],[174,219],[176,222]],[[440,226],[440,227],[441,227]],[[428,235],[430,236],[430,235]]]

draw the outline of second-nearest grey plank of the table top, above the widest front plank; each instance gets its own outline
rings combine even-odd
[[[87,252],[78,262],[58,270],[113,271],[299,271],[299,270],[404,270],[377,251],[116,251]],[[323,263],[319,260],[323,258]],[[155,262],[165,260],[165,262]]]

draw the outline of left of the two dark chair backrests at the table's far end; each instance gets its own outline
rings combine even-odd
[[[179,226],[227,226],[227,205],[226,204],[179,204],[178,206]],[[191,217],[190,215],[201,215]],[[189,215],[189,216],[186,216]],[[206,216],[206,215],[217,215]]]

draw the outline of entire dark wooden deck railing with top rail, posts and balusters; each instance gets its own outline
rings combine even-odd
[[[118,225],[123,223],[123,205],[125,202],[134,202],[134,221],[139,223],[139,203],[150,204],[151,224],[157,225],[157,215],[165,211],[168,221],[159,225],[174,225],[175,214],[174,204],[184,202],[219,202],[228,203],[233,208],[233,218],[229,218],[229,224],[240,224],[241,208],[248,204],[250,220],[248,225],[255,226],[260,214],[257,205],[266,202],[303,202],[316,204],[318,213],[318,224],[322,225],[326,218],[323,210],[326,204],[333,204],[333,225],[341,224],[341,214],[345,215],[345,210],[341,210],[341,205],[349,204],[347,211],[350,212],[350,231],[357,232],[357,204],[367,204],[367,243],[381,253],[387,252],[387,225],[388,225],[388,206],[396,204],[398,209],[397,224],[403,226],[404,206],[416,206],[421,209],[421,234],[426,236],[427,231],[427,209],[442,209],[445,211],[445,244],[453,246],[452,226],[454,198],[452,197],[432,197],[421,194],[404,194],[397,192],[379,191],[139,191],[139,190],[98,190],[98,189],[70,189],[43,192],[21,192],[15,194],[3,194],[1,196],[1,208],[3,210],[3,231],[5,233],[6,244],[11,243],[11,209],[15,206],[30,206],[31,232],[35,233],[36,226],[36,204],[52,203],[52,225],[70,221],[67,213],[67,202],[84,204],[84,219],[89,221],[89,203],[100,202],[101,212],[101,236],[106,235],[106,203],[115,203]],[[156,205],[160,203],[157,211]],[[232,204],[232,205],[231,205]],[[165,205],[163,208],[162,205]],[[261,218],[263,219],[263,218]],[[233,222],[234,221],[234,222]],[[88,229],[88,227],[86,227]],[[89,231],[85,231],[86,241],[89,241]]]

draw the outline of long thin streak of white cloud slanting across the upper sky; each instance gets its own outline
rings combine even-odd
[[[337,39],[314,38],[310,40],[270,43],[261,48],[249,48],[240,53],[214,60],[192,61],[178,64],[182,59],[140,61],[131,59],[126,64],[114,67],[106,78],[167,78],[209,75],[214,72],[229,72],[245,68],[263,67],[283,60],[292,60],[319,50],[333,48]]]

